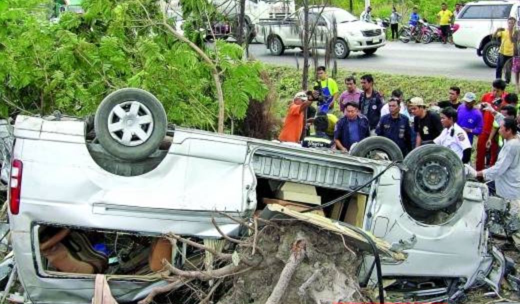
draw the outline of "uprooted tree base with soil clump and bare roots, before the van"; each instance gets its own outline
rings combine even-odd
[[[167,235],[172,244],[185,242],[212,253],[216,266],[211,270],[181,270],[165,261],[170,273],[167,279],[172,283],[154,290],[139,304],[152,302],[160,293],[187,287],[194,290],[193,301],[189,302],[200,303],[366,301],[356,276],[361,259],[357,249],[348,248],[340,235],[298,221],[263,221],[257,226],[255,220],[249,228],[249,237],[227,237],[233,245],[224,253]]]

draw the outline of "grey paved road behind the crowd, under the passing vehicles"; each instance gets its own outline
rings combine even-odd
[[[272,56],[263,44],[250,45],[250,54],[266,63],[291,65],[296,60],[302,67],[300,49],[285,50],[283,56]],[[323,54],[323,52],[321,52]],[[323,57],[320,58],[320,64]],[[484,64],[474,49],[458,49],[440,43],[416,44],[389,42],[371,56],[363,52],[352,52],[347,59],[337,59],[338,68],[353,71],[392,72],[405,75],[440,75],[464,80],[491,81],[495,70]]]

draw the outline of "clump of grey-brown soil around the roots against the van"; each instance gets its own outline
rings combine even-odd
[[[268,227],[259,234],[258,247],[264,251],[268,267],[236,276],[233,287],[218,303],[265,303],[289,259],[292,244],[299,239],[305,240],[306,257],[296,268],[282,303],[366,301],[360,293],[356,275],[361,261],[356,249],[350,248],[354,254],[350,252],[336,234],[291,222],[281,224],[279,228]],[[303,293],[298,293],[315,272],[315,280]]]

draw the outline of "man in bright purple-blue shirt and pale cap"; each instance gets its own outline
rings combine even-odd
[[[474,108],[477,96],[473,92],[464,94],[464,104],[457,109],[457,124],[466,131],[470,143],[473,144],[473,136],[482,133],[484,119],[480,110]]]

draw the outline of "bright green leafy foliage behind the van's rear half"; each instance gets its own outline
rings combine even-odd
[[[49,6],[42,1],[0,1],[5,2],[0,115],[85,115],[111,91],[139,87],[163,102],[171,122],[214,129],[218,107],[211,69],[160,24],[157,1],[85,0],[84,15],[66,12],[57,23],[48,21]],[[249,100],[267,94],[262,66],[245,60],[237,45],[219,42],[204,51],[221,72],[227,115],[242,119]]]

